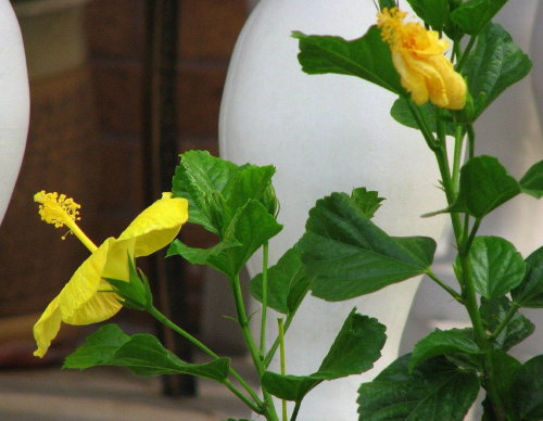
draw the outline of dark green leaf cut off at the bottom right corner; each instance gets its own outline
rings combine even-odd
[[[533,357],[518,370],[510,394],[523,420],[543,419],[543,355]]]

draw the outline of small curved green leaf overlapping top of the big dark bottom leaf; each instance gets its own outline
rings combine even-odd
[[[420,362],[445,354],[480,354],[471,330],[435,330],[417,342],[409,361],[409,372]]]

